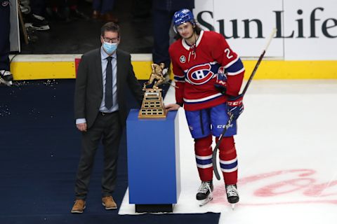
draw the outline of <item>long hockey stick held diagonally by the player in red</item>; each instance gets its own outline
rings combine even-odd
[[[255,73],[258,70],[258,66],[261,63],[261,61],[263,59],[263,56],[265,56],[265,52],[267,51],[267,48],[270,45],[270,42],[272,41],[272,38],[276,34],[276,31],[277,31],[276,28],[272,29],[272,33],[270,34],[270,37],[269,37],[268,42],[267,42],[267,45],[265,45],[265,48],[264,48],[262,54],[260,55],[260,57],[258,58],[258,62],[256,62],[256,65],[255,65],[253,71],[251,72],[251,76],[249,76],[249,80],[247,81],[246,86],[244,87],[244,90],[242,91],[242,97],[244,97],[244,94],[246,94],[246,91],[247,91],[249,85],[251,84],[251,80],[253,80],[253,77],[255,76]],[[212,155],[213,171],[214,171],[214,174],[216,175],[216,179],[218,179],[218,180],[220,180],[220,174],[218,172],[218,167],[216,166],[216,153],[218,151],[218,148],[220,146],[221,141],[223,140],[223,136],[227,132],[227,130],[230,127],[230,125],[232,125],[233,117],[234,116],[231,114],[230,115],[230,119],[228,119],[227,124],[223,128],[223,132],[221,132],[220,137],[218,139],[218,142],[216,143],[216,147],[213,150],[213,155]]]

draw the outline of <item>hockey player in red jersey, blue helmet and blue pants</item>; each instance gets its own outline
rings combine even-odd
[[[194,138],[194,152],[201,186],[197,193],[200,206],[213,199],[212,135],[218,137],[230,115],[233,122],[220,142],[220,167],[225,181],[227,200],[239,202],[237,193],[237,152],[233,135],[236,119],[244,106],[239,90],[244,66],[225,38],[214,31],[203,31],[188,9],[177,11],[173,25],[178,40],[169,48],[176,81],[176,104],[166,109],[185,109]]]

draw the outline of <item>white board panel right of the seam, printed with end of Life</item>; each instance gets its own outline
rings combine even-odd
[[[286,60],[337,59],[337,1],[284,1]]]

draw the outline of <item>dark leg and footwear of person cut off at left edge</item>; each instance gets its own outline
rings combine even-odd
[[[10,31],[10,3],[0,0],[0,83],[8,85],[13,80],[9,66],[9,31]]]

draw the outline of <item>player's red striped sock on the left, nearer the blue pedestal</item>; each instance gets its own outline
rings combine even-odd
[[[201,181],[211,181],[213,179],[212,164],[212,136],[202,139],[194,139],[195,160]]]

